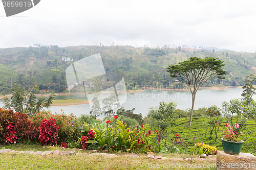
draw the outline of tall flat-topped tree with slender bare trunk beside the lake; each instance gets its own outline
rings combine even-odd
[[[222,76],[227,73],[221,68],[225,65],[223,63],[224,61],[212,57],[206,57],[205,59],[190,57],[188,61],[185,60],[177,65],[168,66],[166,71],[170,73],[170,77],[187,84],[192,94],[191,115],[188,126],[191,126],[197,90],[209,79],[224,79]]]

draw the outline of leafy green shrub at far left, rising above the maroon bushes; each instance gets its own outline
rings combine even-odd
[[[36,98],[35,94],[37,93],[37,89],[38,87],[35,85],[31,91],[28,92],[19,87],[15,82],[11,89],[11,101],[9,101],[7,97],[4,98],[5,107],[22,113],[37,113],[44,107],[49,108],[55,99],[55,94],[50,94],[48,99],[42,97]]]

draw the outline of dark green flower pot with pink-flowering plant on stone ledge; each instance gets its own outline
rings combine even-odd
[[[218,126],[219,123],[217,122]],[[221,127],[220,127],[221,128]],[[224,133],[224,137],[221,138],[222,141],[222,147],[225,153],[230,155],[239,155],[243,140],[240,140],[239,137],[241,135],[244,135],[243,132],[237,132],[237,129],[239,128],[238,124],[234,124],[233,126],[230,126],[229,122],[226,124],[226,130],[221,130]]]

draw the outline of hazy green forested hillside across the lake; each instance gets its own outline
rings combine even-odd
[[[65,91],[65,70],[71,64],[61,61],[70,57],[74,62],[100,53],[106,72],[124,75],[127,88],[135,85],[169,86],[175,79],[165,71],[168,65],[178,64],[189,57],[214,57],[225,61],[227,79],[209,81],[205,86],[217,84],[243,85],[247,75],[256,71],[256,53],[234,51],[208,51],[203,47],[132,47],[132,46],[69,46],[35,44],[33,47],[0,48],[0,91],[9,93],[15,81],[25,88],[38,84],[40,90]],[[177,82],[176,82],[177,83]],[[179,83],[178,83],[179,84]],[[139,87],[139,86],[137,86]]]

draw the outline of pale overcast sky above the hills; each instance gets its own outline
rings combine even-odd
[[[255,52],[253,1],[41,0],[6,17],[0,4],[0,48],[43,45],[215,46]]]

